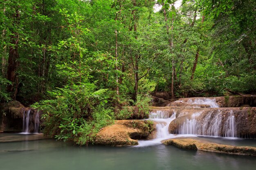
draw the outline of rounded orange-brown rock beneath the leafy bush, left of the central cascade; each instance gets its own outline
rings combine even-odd
[[[117,120],[96,135],[95,144],[106,146],[133,146],[136,139],[146,138],[154,130],[154,124],[142,120]]]

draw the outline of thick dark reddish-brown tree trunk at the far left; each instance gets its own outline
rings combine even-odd
[[[13,27],[17,27],[18,19],[20,18],[20,12],[17,9],[16,13],[13,14]],[[18,89],[14,91],[14,87],[18,88],[18,77],[17,77],[17,68],[18,68],[18,41],[19,36],[17,31],[12,31],[12,35],[10,36],[10,42],[13,44],[9,47],[9,58],[8,58],[8,66],[7,66],[7,79],[12,82],[11,85],[7,87],[8,92],[13,92],[13,100],[16,99],[16,95],[18,93]],[[15,85],[16,84],[16,85]]]

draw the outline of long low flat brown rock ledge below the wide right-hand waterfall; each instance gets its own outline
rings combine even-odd
[[[163,142],[166,145],[174,145],[182,149],[204,150],[208,152],[221,152],[235,155],[256,156],[256,148],[250,146],[230,146],[209,143],[194,139],[169,139]]]

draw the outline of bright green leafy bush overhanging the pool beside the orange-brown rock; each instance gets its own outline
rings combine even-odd
[[[32,105],[45,113],[44,133],[77,144],[92,142],[93,135],[112,122],[112,111],[105,106],[107,89],[95,91],[95,88],[90,83],[65,86],[49,92],[54,99]]]

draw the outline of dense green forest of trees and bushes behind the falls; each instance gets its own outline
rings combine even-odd
[[[1,102],[41,101],[45,134],[88,144],[149,93],[255,93],[256,2],[174,3],[1,0]]]

